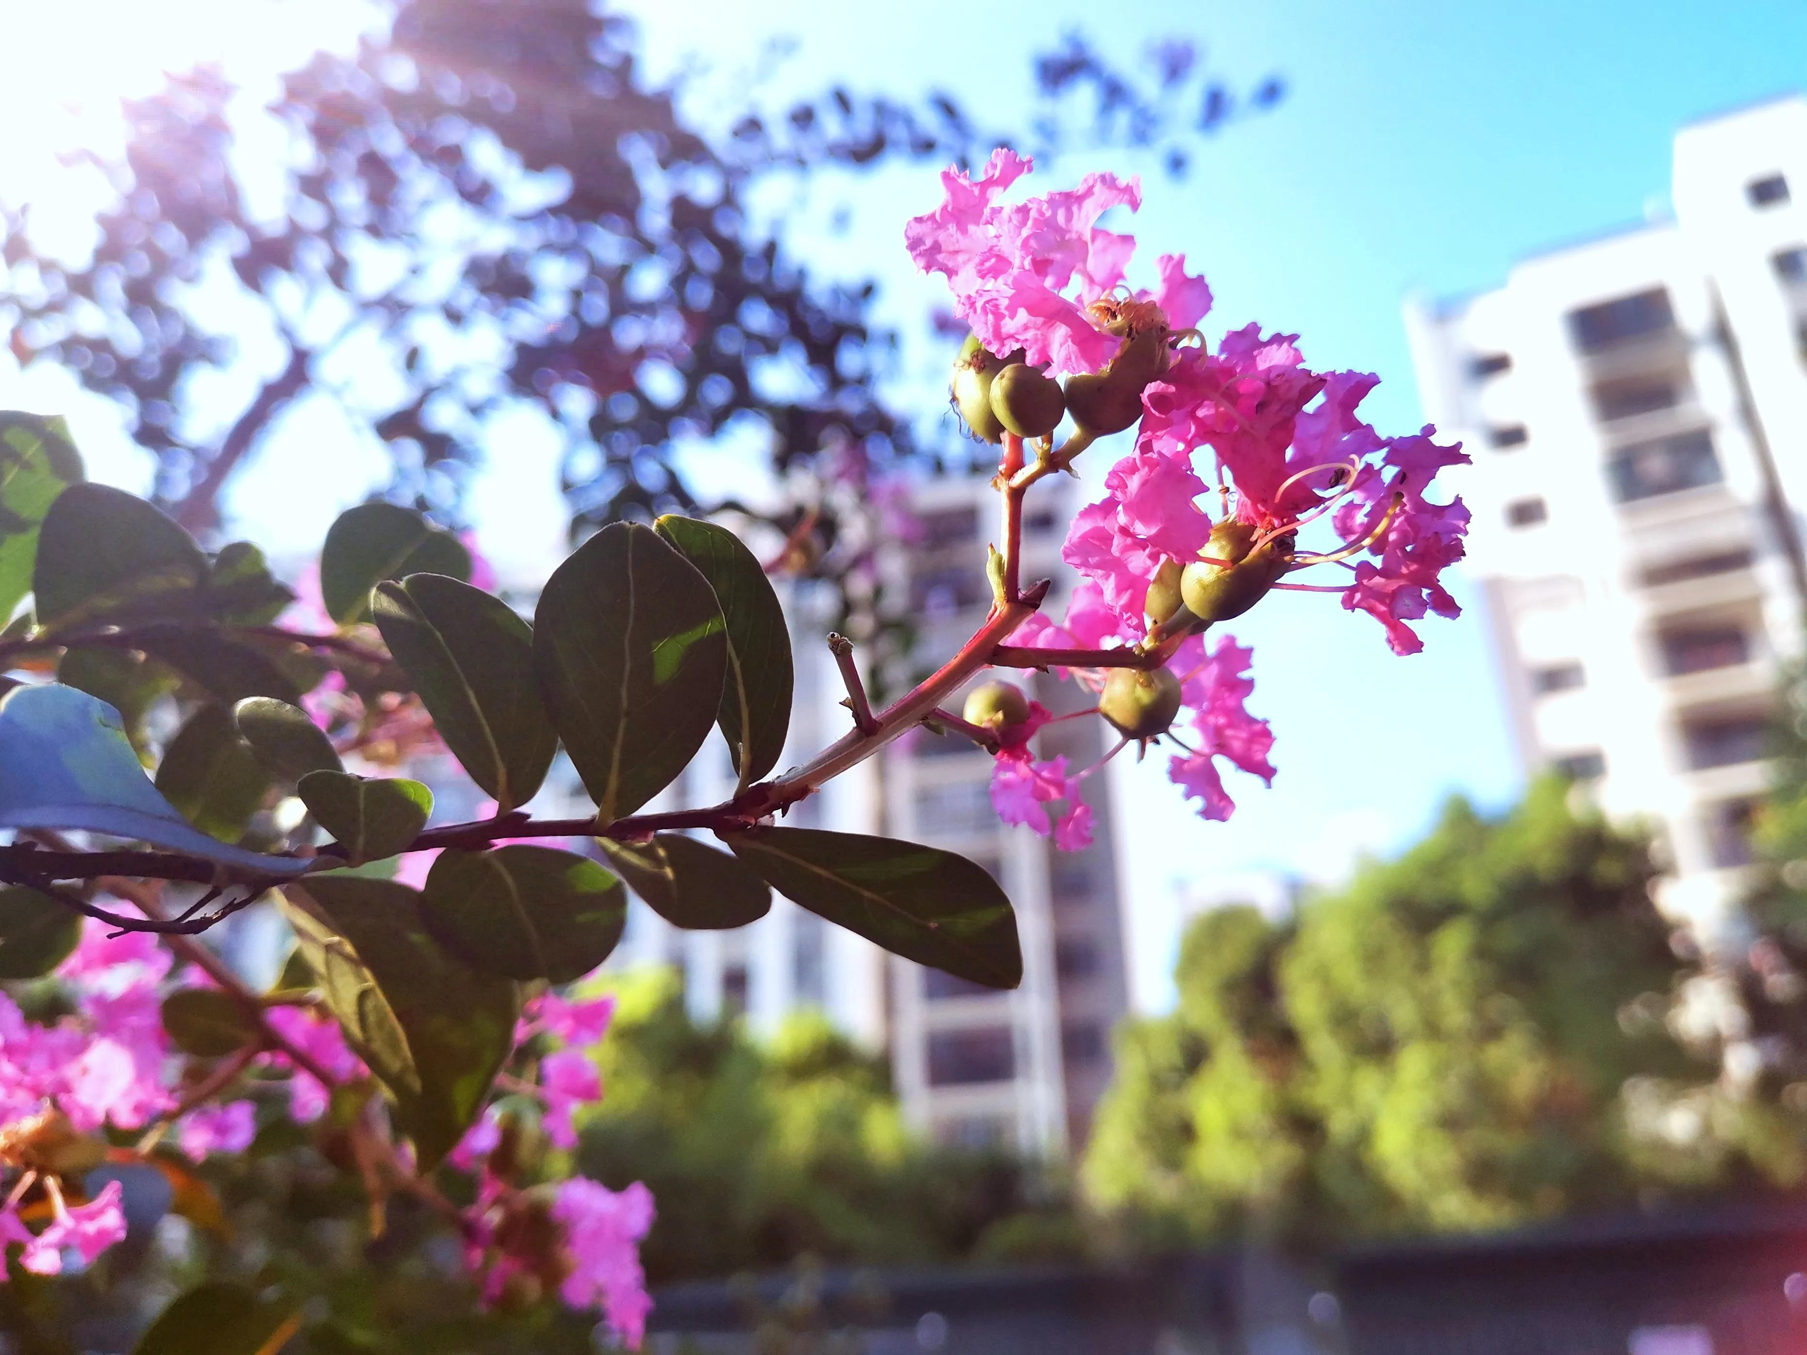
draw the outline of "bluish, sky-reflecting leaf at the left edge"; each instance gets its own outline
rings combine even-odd
[[[0,827],[108,833],[260,874],[309,865],[229,847],[193,827],[150,784],[119,714],[56,683],[0,696]]]

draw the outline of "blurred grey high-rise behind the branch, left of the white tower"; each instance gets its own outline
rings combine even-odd
[[[1028,499],[1023,578],[1072,582],[1059,551],[1079,508],[1073,481],[1044,481]],[[914,495],[916,544],[898,553],[918,627],[923,670],[945,661],[990,605],[985,546],[996,538],[997,495],[983,479],[936,481]],[[1057,591],[1048,600],[1064,607]],[[1023,674],[1048,708],[1082,703],[1073,683]],[[1039,735],[1039,755],[1082,768],[1104,753],[1100,721]],[[1003,1142],[1025,1151],[1077,1151],[1109,1080],[1109,1033],[1128,1005],[1124,920],[1111,847],[1106,777],[1086,782],[1097,815],[1088,851],[1057,851],[990,804],[992,761],[956,735],[927,732],[885,759],[891,833],[958,851],[1010,894],[1023,939],[1023,986],[990,992],[904,959],[891,961],[891,1053],[909,1118],[949,1142]]]

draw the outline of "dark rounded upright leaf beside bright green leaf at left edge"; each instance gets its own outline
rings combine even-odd
[[[38,625],[190,611],[208,576],[195,538],[143,499],[107,484],[70,484],[38,529],[31,591]]]

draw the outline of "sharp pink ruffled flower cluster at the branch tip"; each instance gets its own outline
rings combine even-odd
[[[1334,585],[1274,587],[1337,593],[1346,611],[1382,623],[1395,652],[1422,649],[1411,621],[1458,614],[1440,575],[1462,558],[1469,515],[1460,499],[1433,499],[1431,481],[1467,463],[1460,446],[1435,443],[1431,428],[1379,435],[1357,414],[1377,378],[1310,370],[1296,336],[1263,336],[1249,325],[1209,349],[1196,325],[1211,309],[1211,289],[1185,273],[1184,255],[1162,255],[1155,289],[1135,293],[1124,284],[1133,237],[1097,226],[1109,208],[1140,206],[1138,182],[1086,175],[1072,192],[1001,201],[1030,168],[1026,157],[997,150],[978,179],[943,172],[941,206],[905,226],[916,266],[947,276],[956,313],[990,352],[1023,349],[1052,376],[1108,374],[1124,338],[1106,325],[1124,314],[1137,332],[1160,325],[1167,343],[1162,370],[1142,388],[1133,450],[1106,475],[1106,497],[1077,513],[1068,533],[1063,558],[1082,582],[1064,621],[1032,618],[1017,641],[1055,649],[1142,641],[1156,573],[1169,562],[1236,564],[1211,553],[1212,528],[1236,522],[1250,551],[1283,549],[1288,573],[1319,565],[1343,575]],[[1305,549],[1301,529],[1319,522],[1326,540]],[[1169,658],[1194,739],[1175,739],[1182,755],[1169,773],[1207,818],[1234,808],[1216,759],[1274,775],[1272,734],[1245,708],[1249,658],[1229,636],[1211,649],[1193,636]],[[1073,676],[1102,685],[1097,670]],[[1057,838],[1064,829],[1077,844],[1072,820],[1050,820],[1044,808],[1068,790],[1059,759],[1035,762],[1019,746],[999,753],[994,800],[1006,820]]]

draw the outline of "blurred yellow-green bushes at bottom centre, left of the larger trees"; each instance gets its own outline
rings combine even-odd
[[[882,1057],[801,1012],[768,1044],[698,1024],[667,970],[629,977],[600,1046],[604,1098],[578,1167],[645,1182],[647,1279],[773,1270],[802,1257],[905,1265],[1073,1254],[1064,1191],[1003,1153],[941,1149],[902,1120]]]

